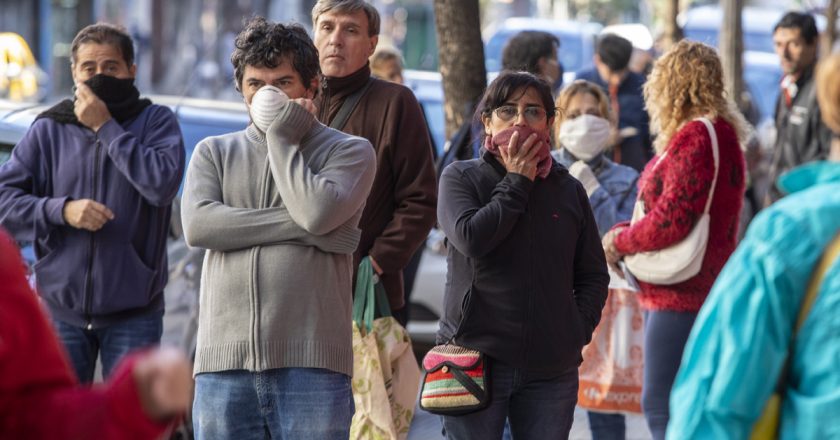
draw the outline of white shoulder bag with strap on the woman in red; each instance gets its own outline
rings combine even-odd
[[[712,188],[709,190],[709,198],[706,200],[706,209],[703,215],[697,220],[691,232],[679,243],[673,244],[665,249],[650,252],[639,252],[624,257],[624,263],[636,278],[651,284],[676,284],[685,281],[700,272],[703,265],[703,257],[706,255],[706,245],[709,242],[709,209],[712,206],[712,196],[715,193],[717,184],[718,169],[720,168],[720,153],[718,141],[712,123],[706,118],[698,118],[709,130],[709,137],[712,139],[712,154],[715,159],[715,176],[712,179]],[[659,157],[654,165],[656,169],[666,152]],[[653,169],[651,171],[653,171]],[[636,200],[633,207],[633,217],[630,224],[633,225],[645,216],[645,205],[641,197]]]

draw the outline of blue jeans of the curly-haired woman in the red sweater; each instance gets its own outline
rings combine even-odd
[[[696,312],[645,312],[645,370],[642,411],[654,440],[665,438],[671,386],[677,377],[682,352],[697,318]]]

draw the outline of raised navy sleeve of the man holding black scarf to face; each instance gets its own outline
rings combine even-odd
[[[184,141],[171,110],[154,106],[143,139],[114,119],[97,132],[108,156],[131,185],[154,206],[166,206],[178,193],[184,175]]]

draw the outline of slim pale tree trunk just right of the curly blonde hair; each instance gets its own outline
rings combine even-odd
[[[744,109],[746,101],[743,99],[744,90],[743,61],[744,37],[741,27],[741,11],[744,0],[722,0],[720,6],[723,12],[723,24],[720,30],[718,47],[720,60],[723,64],[723,82],[726,91]]]

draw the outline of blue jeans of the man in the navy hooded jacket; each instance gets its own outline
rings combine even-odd
[[[93,382],[96,357],[101,356],[102,377],[107,379],[126,354],[160,344],[163,316],[138,316],[108,327],[87,330],[53,320],[59,339],[70,355],[70,363],[81,383]]]

